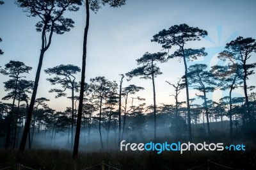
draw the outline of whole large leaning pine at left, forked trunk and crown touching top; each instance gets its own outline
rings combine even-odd
[[[79,10],[76,5],[81,5],[82,3],[81,0],[17,0],[16,4],[20,8],[24,8],[24,12],[29,13],[29,17],[40,18],[40,21],[36,24],[36,31],[42,32],[42,46],[40,50],[38,67],[36,70],[35,85],[33,88],[28,116],[19,148],[20,152],[24,152],[45,51],[47,51],[51,45],[53,33],[62,35],[63,33],[70,31],[70,28],[74,27],[74,21],[72,19],[63,17],[65,10],[76,12]]]

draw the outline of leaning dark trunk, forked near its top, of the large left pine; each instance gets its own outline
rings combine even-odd
[[[47,23],[47,21],[45,21],[45,23]],[[42,64],[43,64],[44,53],[47,49],[49,49],[49,46],[51,45],[52,33],[54,31],[54,22],[52,22],[51,33],[49,35],[49,42],[45,46],[46,29],[47,29],[47,24],[44,25],[44,28],[43,28],[43,31],[42,31],[42,36],[41,36],[41,38],[42,38],[42,48],[41,48],[41,52],[40,52],[38,67],[37,67],[37,70],[36,70],[36,77],[35,77],[34,88],[33,88],[32,96],[31,96],[31,101],[30,101],[30,105],[29,105],[29,109],[28,109],[28,116],[27,116],[27,119],[26,119],[24,131],[23,131],[23,134],[22,134],[22,139],[21,139],[21,142],[20,142],[19,151],[22,152],[22,153],[24,152],[25,147],[26,147],[26,141],[27,141],[27,137],[28,137],[29,126],[30,126],[32,114],[33,114],[33,108],[34,108],[34,104],[35,104],[35,100],[36,100],[36,93],[37,93],[38,83],[39,83],[39,79],[40,79],[40,72],[41,72],[41,68],[42,68]]]

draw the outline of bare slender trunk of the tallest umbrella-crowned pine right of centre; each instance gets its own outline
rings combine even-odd
[[[188,90],[188,68],[186,63],[186,56],[184,56],[184,49],[182,47],[182,55],[185,66],[185,85],[186,85],[186,95],[187,95],[187,107],[188,107],[188,135],[189,141],[192,142],[192,133],[191,133],[191,118],[190,118],[190,104],[189,104],[189,90]]]

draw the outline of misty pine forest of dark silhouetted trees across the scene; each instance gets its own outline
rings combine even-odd
[[[4,3],[0,1],[1,8]],[[88,55],[91,15],[97,14],[102,6],[123,8],[125,3],[125,0],[15,1],[17,8],[22,8],[28,17],[36,18],[40,50],[38,56],[34,56],[38,65],[29,65],[22,59],[0,63],[0,79],[6,80],[0,84],[3,89],[0,94],[0,151],[15,150],[19,151],[18,154],[28,154],[27,150],[35,149],[63,150],[69,155],[72,151],[73,159],[79,153],[102,151],[102,157],[108,157],[104,151],[120,151],[120,142],[125,140],[126,143],[245,144],[246,149],[251,148],[255,155],[256,91],[253,74],[256,40],[253,35],[229,40],[216,54],[218,62],[209,65],[206,59],[202,60],[210,58],[209,49],[200,43],[211,36],[207,30],[191,24],[173,24],[148,37],[149,42],[160,45],[161,49],[157,52],[140,51],[142,55],[132,59],[136,65],[134,68],[128,72],[112,72],[118,79],[106,77],[105,70],[100,70],[102,75],[86,77],[86,66],[90,65],[90,60],[86,62],[86,59],[93,57]],[[79,8],[85,8],[86,16],[84,32],[80,33],[83,36],[81,66],[70,64],[72,58],[68,64],[60,60],[54,62],[54,66],[44,65],[43,59],[47,58],[48,51],[53,50],[52,43],[56,43],[54,38],[63,36],[74,27],[74,21],[68,18],[72,15],[67,17],[65,13],[76,13]],[[1,58],[6,57],[6,50],[1,47],[4,41],[0,38]],[[29,49],[26,50],[29,53]],[[170,67],[169,73],[177,77],[170,81],[162,65],[173,62],[180,63],[182,75],[175,75],[176,68]],[[125,66],[125,63],[121,65]],[[31,73],[32,69],[36,73]],[[158,78],[163,74],[167,78],[160,81]],[[28,79],[29,76],[35,78]],[[44,86],[49,91],[44,96],[40,93],[42,77],[46,77],[44,80],[49,84]],[[134,79],[145,82],[147,86],[134,83]],[[159,97],[158,84],[168,86],[164,89],[168,102]],[[141,94],[145,94],[142,92],[146,89],[144,97]],[[241,95],[237,95],[237,91]],[[221,94],[218,100],[214,94]],[[51,108],[52,101],[47,96],[58,100],[67,98],[65,109]],[[58,100],[55,100],[57,105]],[[156,160],[160,157],[163,158],[157,154],[153,156]],[[255,166],[253,160],[249,158],[248,161]],[[151,153],[150,164],[154,164]],[[226,165],[230,166],[229,163]]]

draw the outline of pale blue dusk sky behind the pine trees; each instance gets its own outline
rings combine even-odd
[[[154,53],[162,50],[161,45],[150,41],[152,36],[175,24],[186,23],[208,32],[208,36],[200,42],[186,45],[193,48],[205,47],[208,52],[205,58],[189,62],[188,65],[216,65],[219,62],[216,56],[227,42],[237,36],[256,38],[255,7],[256,1],[253,0],[127,0],[120,8],[103,6],[99,12],[91,12],[90,15],[86,82],[96,76],[105,76],[109,81],[116,81],[119,84],[121,73],[127,73],[138,66],[136,59],[141,58],[145,52]],[[27,14],[12,0],[4,0],[4,4],[0,6],[0,37],[3,40],[0,49],[4,51],[4,55],[0,56],[0,66],[4,68],[10,60],[22,61],[25,65],[33,67],[26,75],[26,79],[34,81],[41,47],[40,33],[35,30],[35,24],[39,19],[27,17]],[[46,75],[44,70],[61,64],[81,67],[85,7],[81,6],[79,12],[67,12],[65,16],[74,20],[74,28],[64,35],[53,35],[51,46],[45,52],[36,95],[37,98],[49,98],[49,106],[57,111],[64,111],[66,107],[70,107],[71,100],[65,97],[54,98],[56,94],[48,93],[51,88],[58,86],[53,87],[45,80],[49,75]],[[173,50],[170,50],[170,54],[172,52]],[[255,62],[256,56],[253,54],[250,63]],[[165,81],[176,84],[184,75],[184,63],[179,62],[179,59],[170,59],[167,63],[157,65],[163,72],[156,78],[157,105],[174,104],[174,98],[171,96],[175,93],[174,89]],[[81,74],[78,73],[76,77],[79,81]],[[250,86],[255,85],[255,78],[256,75],[250,76]],[[3,82],[7,80],[6,75],[0,75],[0,98],[7,93],[3,89]],[[153,104],[150,80],[134,77],[129,82],[124,81],[123,86],[129,84],[144,87],[145,90],[136,93],[134,97],[146,98],[148,105]],[[71,91],[67,93],[71,94]],[[200,94],[193,88],[189,89],[191,98],[195,97],[195,93]],[[219,90],[210,94],[209,98],[218,101],[225,95],[227,93]],[[243,90],[237,89],[234,96],[243,97]],[[185,97],[186,93],[183,90],[180,93],[180,101],[186,100]]]

